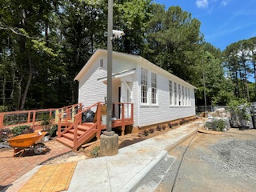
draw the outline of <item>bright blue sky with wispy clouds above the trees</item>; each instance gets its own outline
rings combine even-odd
[[[256,36],[256,0],[153,0],[180,6],[198,18],[206,42],[225,50],[233,42]]]

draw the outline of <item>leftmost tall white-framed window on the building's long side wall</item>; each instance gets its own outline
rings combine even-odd
[[[148,70],[141,68],[141,97],[140,101],[142,105],[149,103],[149,82],[148,82]]]

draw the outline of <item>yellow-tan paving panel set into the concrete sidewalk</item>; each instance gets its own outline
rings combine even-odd
[[[77,162],[42,166],[19,192],[54,192],[68,190]]]

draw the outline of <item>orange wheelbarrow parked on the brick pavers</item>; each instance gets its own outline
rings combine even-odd
[[[15,154],[17,154],[21,150],[22,153],[19,155],[19,157],[22,156],[26,149],[33,149],[34,154],[42,154],[42,152],[48,150],[48,147],[42,142],[39,142],[39,140],[41,141],[41,138],[44,137],[46,134],[47,132],[20,134],[14,138],[7,139],[7,141],[9,142],[9,146],[14,148],[14,157]]]

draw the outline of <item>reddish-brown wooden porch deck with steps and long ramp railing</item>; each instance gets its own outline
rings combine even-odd
[[[83,122],[82,115],[88,110],[96,109],[93,122]],[[133,103],[113,103],[114,120],[112,128],[120,128],[122,135],[125,127],[134,124]],[[100,138],[106,125],[102,124],[102,115],[106,115],[106,104],[97,102],[82,109],[82,103],[59,109],[23,110],[0,113],[0,129],[28,125],[34,130],[42,130],[44,117],[49,117],[51,125],[58,125],[58,142],[62,142],[73,150],[77,150],[91,138]]]

